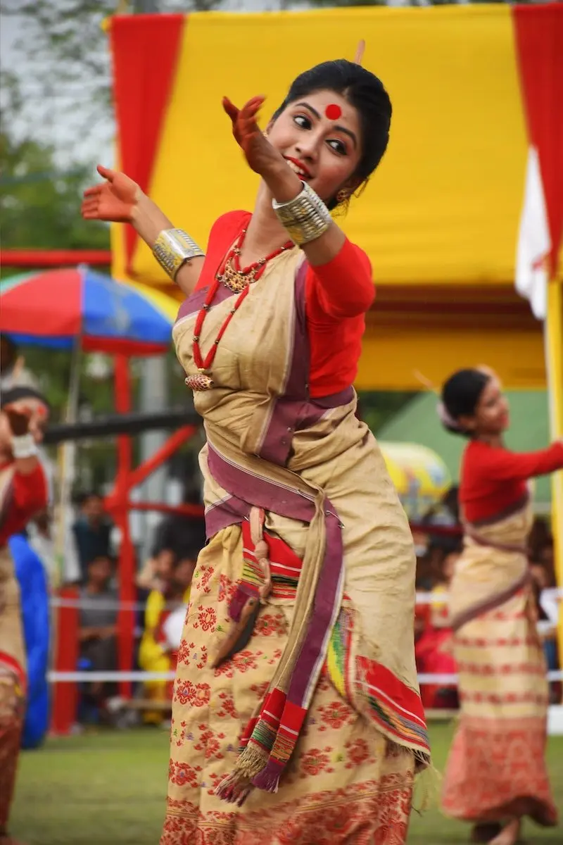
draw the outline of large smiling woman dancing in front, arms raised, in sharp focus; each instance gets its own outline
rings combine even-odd
[[[330,215],[381,160],[391,103],[342,59],[295,79],[266,136],[262,104],[224,101],[262,181],[204,259],[124,174],[100,168],[84,199],[186,292],[174,341],[207,435],[161,842],[402,843],[429,761],[414,548],[355,417],[371,266]]]

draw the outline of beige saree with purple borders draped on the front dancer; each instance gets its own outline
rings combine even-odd
[[[219,344],[214,389],[194,396],[211,539],[178,656],[162,845],[399,845],[429,761],[409,525],[354,391],[308,396],[302,261],[268,264]],[[187,373],[206,293],[174,330]],[[203,354],[231,297],[219,289]],[[263,586],[257,509],[272,589],[212,668]]]

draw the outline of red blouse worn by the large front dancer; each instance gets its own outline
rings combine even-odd
[[[248,211],[230,211],[215,221],[196,290],[209,285],[225,253],[249,221]],[[339,393],[358,372],[365,312],[375,287],[370,259],[348,238],[338,255],[306,275],[306,321],[311,346],[311,396]]]

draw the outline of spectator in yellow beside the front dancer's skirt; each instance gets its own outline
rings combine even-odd
[[[162,549],[154,559],[157,583],[147,599],[143,638],[138,654],[139,666],[145,672],[176,670],[180,641],[172,640],[167,633],[166,622],[177,608],[182,608],[183,622],[185,608],[190,601],[192,575],[198,552],[197,546],[180,549],[178,553],[171,549]],[[145,692],[151,701],[171,701],[171,683],[168,681],[148,681],[145,684]],[[162,716],[162,710],[147,711],[144,721],[160,724]]]

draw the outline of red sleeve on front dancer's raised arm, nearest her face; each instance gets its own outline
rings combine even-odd
[[[376,296],[370,259],[348,238],[327,264],[309,266],[306,284],[314,288],[322,311],[333,319],[360,316]]]

